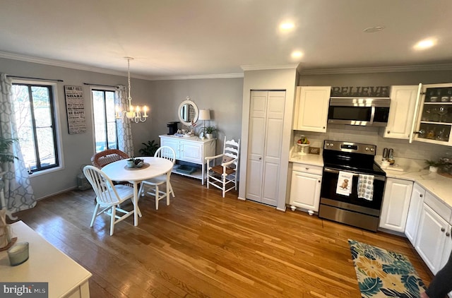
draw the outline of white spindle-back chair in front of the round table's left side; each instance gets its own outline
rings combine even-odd
[[[126,211],[120,208],[119,204],[131,200],[133,203],[133,188],[122,184],[114,185],[113,181],[102,172],[101,169],[87,165],[83,167],[83,174],[86,179],[93,186],[93,190],[96,194],[96,206],[93,213],[93,219],[91,220],[90,227],[93,227],[94,221],[98,215],[105,213],[111,217],[110,220],[110,236],[114,232],[114,225],[121,220],[125,220],[130,215],[133,215],[134,210],[137,210],[138,215],[141,216],[141,212],[138,206],[133,206],[133,210]],[[102,210],[99,211],[99,209]],[[117,212],[122,215],[117,215]]]

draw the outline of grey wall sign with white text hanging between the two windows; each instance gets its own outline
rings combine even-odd
[[[64,95],[66,97],[66,112],[68,114],[69,133],[86,132],[83,87],[64,86]]]

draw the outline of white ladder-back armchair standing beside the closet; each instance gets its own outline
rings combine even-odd
[[[222,190],[222,197],[231,189],[237,191],[237,172],[239,170],[239,151],[240,140],[226,141],[223,146],[223,153],[211,157],[206,157],[207,160],[207,188],[213,185]],[[220,165],[215,165],[215,162],[220,160]]]

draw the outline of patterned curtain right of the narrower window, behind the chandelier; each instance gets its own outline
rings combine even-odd
[[[119,85],[116,88],[115,104],[122,107],[124,110],[128,109],[126,87]],[[124,151],[129,156],[133,154],[133,140],[132,140],[132,125],[128,119],[117,119],[117,131],[118,131],[118,146],[119,150]]]

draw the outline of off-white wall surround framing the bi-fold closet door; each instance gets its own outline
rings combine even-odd
[[[283,143],[281,144],[280,181],[278,186],[278,210],[285,210],[287,190],[287,170],[289,151],[292,145],[292,114],[295,102],[297,71],[294,69],[276,69],[265,71],[245,71],[242,106],[242,150],[240,154],[239,198],[246,194],[246,157],[248,156],[249,105],[251,90],[285,90],[285,119],[283,124]]]

